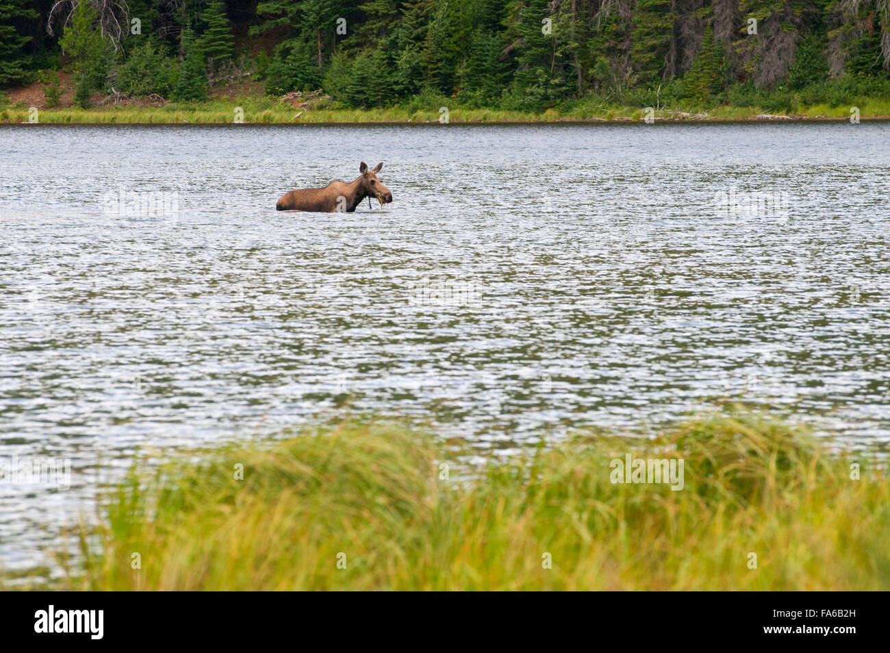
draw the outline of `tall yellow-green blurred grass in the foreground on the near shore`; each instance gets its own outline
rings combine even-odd
[[[137,466],[59,586],[890,589],[886,473],[788,425],[744,414],[651,440],[579,436],[482,473],[436,441],[371,422]],[[627,453],[682,458],[683,489],[612,483]]]

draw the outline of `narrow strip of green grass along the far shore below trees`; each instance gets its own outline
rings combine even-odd
[[[857,105],[863,120],[890,118],[890,99],[861,98]],[[416,109],[414,106],[388,109],[301,109],[272,98],[245,97],[215,99],[197,103],[168,103],[160,107],[109,105],[93,109],[77,107],[39,109],[40,123],[121,123],[121,124],[224,124],[232,123],[236,110],[243,110],[245,123],[307,124],[307,123],[438,123],[439,106]],[[27,104],[18,102],[0,107],[0,123],[27,123],[31,114]],[[849,106],[818,104],[798,108],[794,112],[770,111],[760,107],[716,106],[687,110],[658,108],[653,112],[662,121],[748,121],[764,119],[837,119],[850,118]],[[562,109],[541,112],[492,109],[449,108],[449,123],[514,123],[556,122],[568,120],[643,120],[645,110],[638,106],[622,106],[595,102],[578,102]]]

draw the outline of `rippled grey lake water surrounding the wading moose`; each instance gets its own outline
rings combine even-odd
[[[39,561],[136,447],[345,406],[480,448],[727,398],[890,441],[888,137],[0,128],[0,456],[73,465],[68,491],[0,483],[0,566]],[[360,160],[384,161],[383,211],[274,210]],[[178,213],[109,213],[121,189],[175,193]]]

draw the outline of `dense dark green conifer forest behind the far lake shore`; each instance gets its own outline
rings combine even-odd
[[[0,0],[0,89],[341,107],[842,105],[890,96],[890,0]]]

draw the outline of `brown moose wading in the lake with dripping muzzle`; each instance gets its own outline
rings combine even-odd
[[[279,211],[313,211],[317,213],[334,213],[335,211],[352,212],[361,200],[366,197],[375,197],[380,202],[380,208],[384,203],[392,201],[392,192],[377,178],[377,173],[384,167],[378,163],[372,170],[362,161],[359,166],[361,175],[352,182],[344,182],[335,179],[324,188],[302,188],[296,191],[286,192],[275,204]]]

